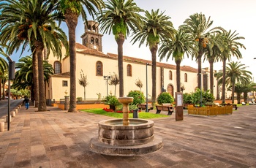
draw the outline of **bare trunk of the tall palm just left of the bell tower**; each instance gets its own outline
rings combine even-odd
[[[78,25],[78,15],[67,12],[65,15],[67,27],[69,28],[69,62],[70,62],[70,100],[68,112],[76,112],[76,50],[75,50],[75,28]]]

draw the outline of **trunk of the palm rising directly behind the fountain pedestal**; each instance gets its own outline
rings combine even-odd
[[[123,66],[123,44],[124,34],[119,33],[116,39],[118,46],[118,75],[119,75],[119,97],[124,96],[124,66]]]

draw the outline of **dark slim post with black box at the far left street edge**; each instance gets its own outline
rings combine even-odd
[[[7,60],[9,61],[9,77],[8,77],[8,126],[7,130],[10,130],[10,80],[15,79],[15,61],[12,61],[10,56],[7,56]]]

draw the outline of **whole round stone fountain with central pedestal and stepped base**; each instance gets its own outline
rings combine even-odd
[[[162,148],[162,138],[154,135],[154,122],[130,118],[128,104],[133,97],[119,97],[123,119],[99,122],[99,135],[91,139],[91,149],[110,156],[136,156]]]

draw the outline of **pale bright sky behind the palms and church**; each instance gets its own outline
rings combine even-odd
[[[255,17],[256,17],[256,1],[255,0],[134,0],[141,9],[151,11],[151,9],[159,9],[165,12],[165,15],[170,16],[170,21],[174,28],[178,28],[184,23],[184,20],[189,18],[189,15],[202,12],[206,18],[211,17],[213,25],[211,28],[221,26],[225,30],[236,31],[239,37],[245,39],[239,40],[246,50],[241,49],[242,59],[237,60],[232,58],[231,61],[241,61],[241,64],[248,66],[246,70],[252,72],[253,81],[256,82],[256,50],[255,49]],[[143,15],[143,13],[141,14]],[[91,17],[89,17],[91,20]],[[61,24],[61,28],[67,31],[66,23]],[[80,18],[76,28],[76,42],[82,43],[80,36],[84,33],[83,20]],[[113,34],[103,34],[102,45],[103,53],[116,53],[117,44]],[[67,34],[68,36],[68,34]],[[135,58],[143,58],[151,60],[151,53],[146,44],[138,47],[138,42],[132,45],[131,38],[127,37],[123,45],[124,56],[131,56]],[[13,61],[18,61],[20,53],[11,56]],[[159,61],[159,58],[157,58]],[[167,64],[174,64],[175,62],[170,58],[162,62]],[[196,61],[191,61],[191,58],[185,56],[181,66],[192,66],[197,68]],[[208,67],[208,61],[202,64],[202,67]],[[222,62],[214,64],[215,70],[222,69]]]

